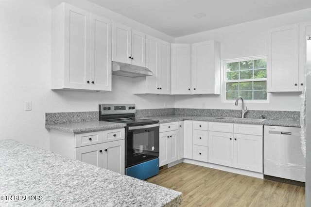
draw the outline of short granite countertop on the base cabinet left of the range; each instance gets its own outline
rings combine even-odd
[[[126,127],[126,124],[114,123],[114,122],[102,122],[102,121],[92,121],[92,122],[78,122],[78,123],[63,123],[55,125],[46,125],[48,129],[56,129],[65,132],[86,132],[86,131],[98,131],[109,128],[121,128]]]

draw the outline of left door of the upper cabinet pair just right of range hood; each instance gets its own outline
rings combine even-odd
[[[146,81],[146,93],[159,94],[161,70],[159,66],[159,40],[147,35],[146,38],[146,67],[153,72],[152,76],[147,76]]]

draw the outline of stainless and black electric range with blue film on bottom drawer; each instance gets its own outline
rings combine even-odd
[[[125,174],[145,180],[159,173],[159,121],[135,112],[135,104],[99,104],[100,121],[126,124]]]

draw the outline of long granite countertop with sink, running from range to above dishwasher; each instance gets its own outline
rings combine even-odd
[[[155,119],[159,120],[160,123],[177,122],[183,120],[193,120],[193,121],[208,121],[208,122],[226,122],[226,123],[238,123],[238,124],[256,124],[256,125],[272,125],[272,126],[284,126],[284,127],[300,127],[299,120],[270,120],[265,119],[264,121],[256,120],[237,120],[237,119],[217,119],[219,117],[210,116],[187,116],[187,115],[166,115],[166,116],[148,116],[139,117],[141,119]]]

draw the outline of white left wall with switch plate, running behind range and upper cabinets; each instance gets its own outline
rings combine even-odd
[[[112,92],[52,91],[51,8],[62,0],[0,0],[0,139],[49,149],[45,112],[97,111],[99,103],[136,103],[137,109],[174,107],[173,96],[132,95],[131,78],[112,79]],[[85,0],[68,0],[173,42],[173,38]],[[24,101],[33,111],[24,110]]]

